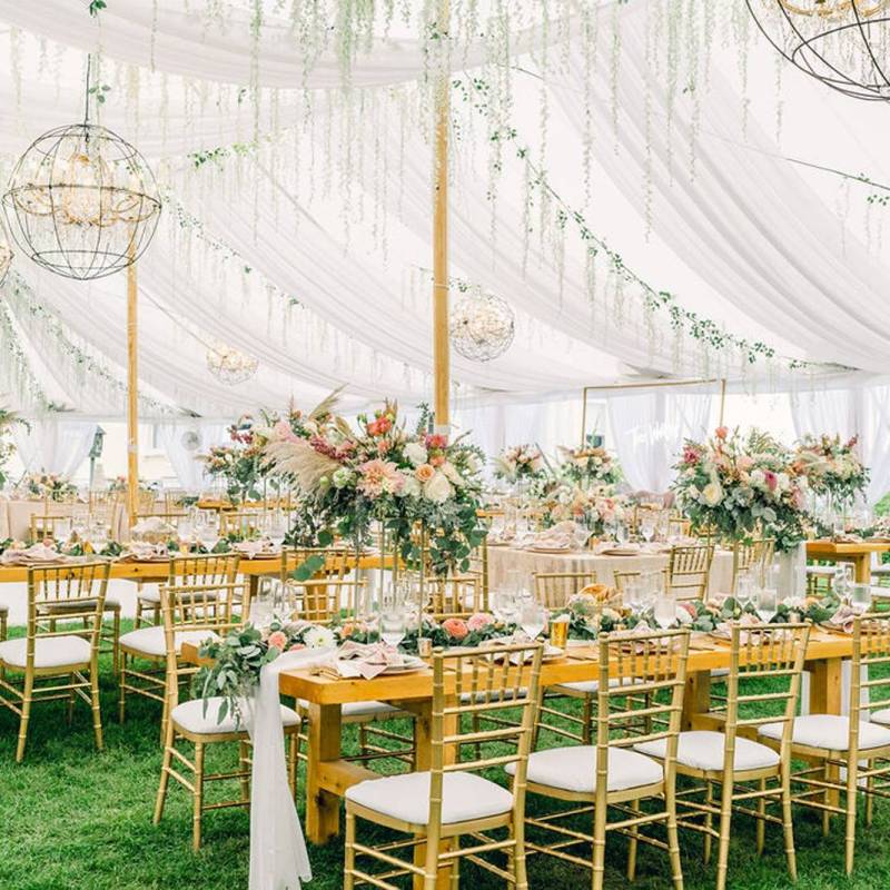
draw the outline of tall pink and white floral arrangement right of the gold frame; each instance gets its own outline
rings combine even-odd
[[[728,541],[760,534],[787,553],[804,537],[805,473],[782,445],[758,431],[743,439],[718,428],[705,443],[688,441],[672,490],[693,528]]]

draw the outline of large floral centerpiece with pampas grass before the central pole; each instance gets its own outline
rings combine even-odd
[[[309,427],[281,422],[265,433],[264,458],[340,537],[360,545],[376,521],[413,565],[421,530],[434,572],[465,571],[485,534],[477,517],[481,454],[464,437],[428,433],[428,419],[423,409],[407,432],[387,402],[355,426],[333,415]]]

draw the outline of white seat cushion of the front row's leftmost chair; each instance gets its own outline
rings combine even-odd
[[[369,810],[425,825],[429,819],[429,773],[409,772],[368,779],[346,791],[346,800]],[[448,772],[442,783],[442,821],[446,824],[510,812],[513,794],[472,772]]]

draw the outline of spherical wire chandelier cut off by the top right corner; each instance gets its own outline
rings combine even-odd
[[[745,0],[792,65],[854,99],[890,99],[890,0]]]

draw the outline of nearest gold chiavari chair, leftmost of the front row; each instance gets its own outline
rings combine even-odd
[[[527,888],[524,813],[525,770],[528,763],[541,672],[541,646],[514,645],[494,661],[490,649],[433,655],[433,723],[431,769],[359,782],[346,791],[346,858],[344,890],[369,882],[396,890],[398,876],[415,876],[426,890],[441,887],[439,870],[452,871],[451,886],[458,887],[459,861],[473,862],[517,888]],[[527,692],[527,694],[526,694]],[[518,710],[518,722],[504,721],[493,730],[479,730],[473,718],[496,718],[504,709]],[[462,760],[464,751],[478,752]],[[478,775],[503,765],[512,770],[505,789]],[[360,843],[357,821],[409,835],[392,842]],[[490,832],[506,829],[507,837]],[[461,838],[475,843],[461,846]],[[498,868],[483,853],[507,857],[507,869]],[[403,853],[399,856],[399,853]],[[405,853],[414,854],[408,859]],[[385,867],[370,873],[359,869],[357,857]]]

